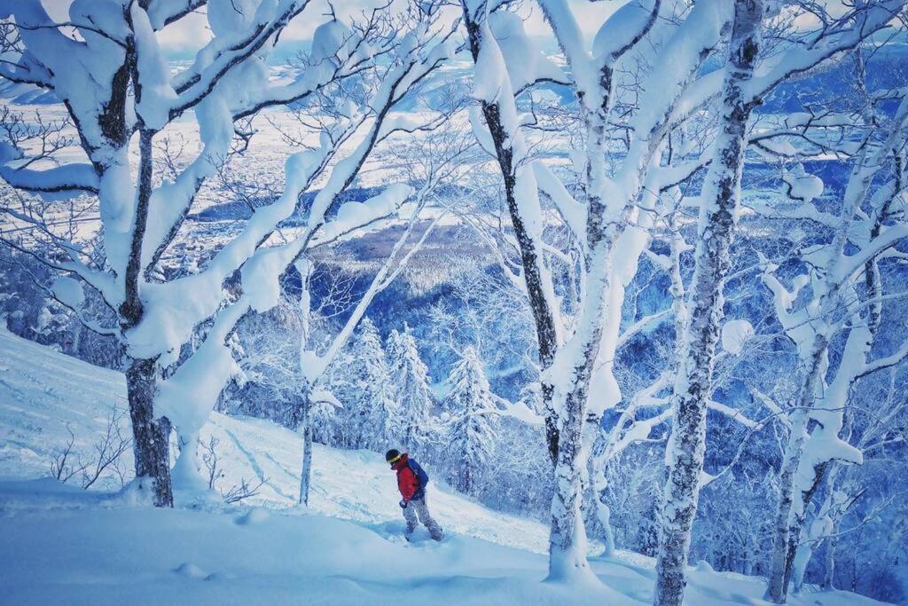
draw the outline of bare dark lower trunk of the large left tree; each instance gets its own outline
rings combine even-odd
[[[150,492],[155,507],[173,507],[170,477],[170,432],[167,417],[154,418],[154,389],[157,364],[154,360],[133,360],[126,370],[126,392],[133,419],[135,482]]]

